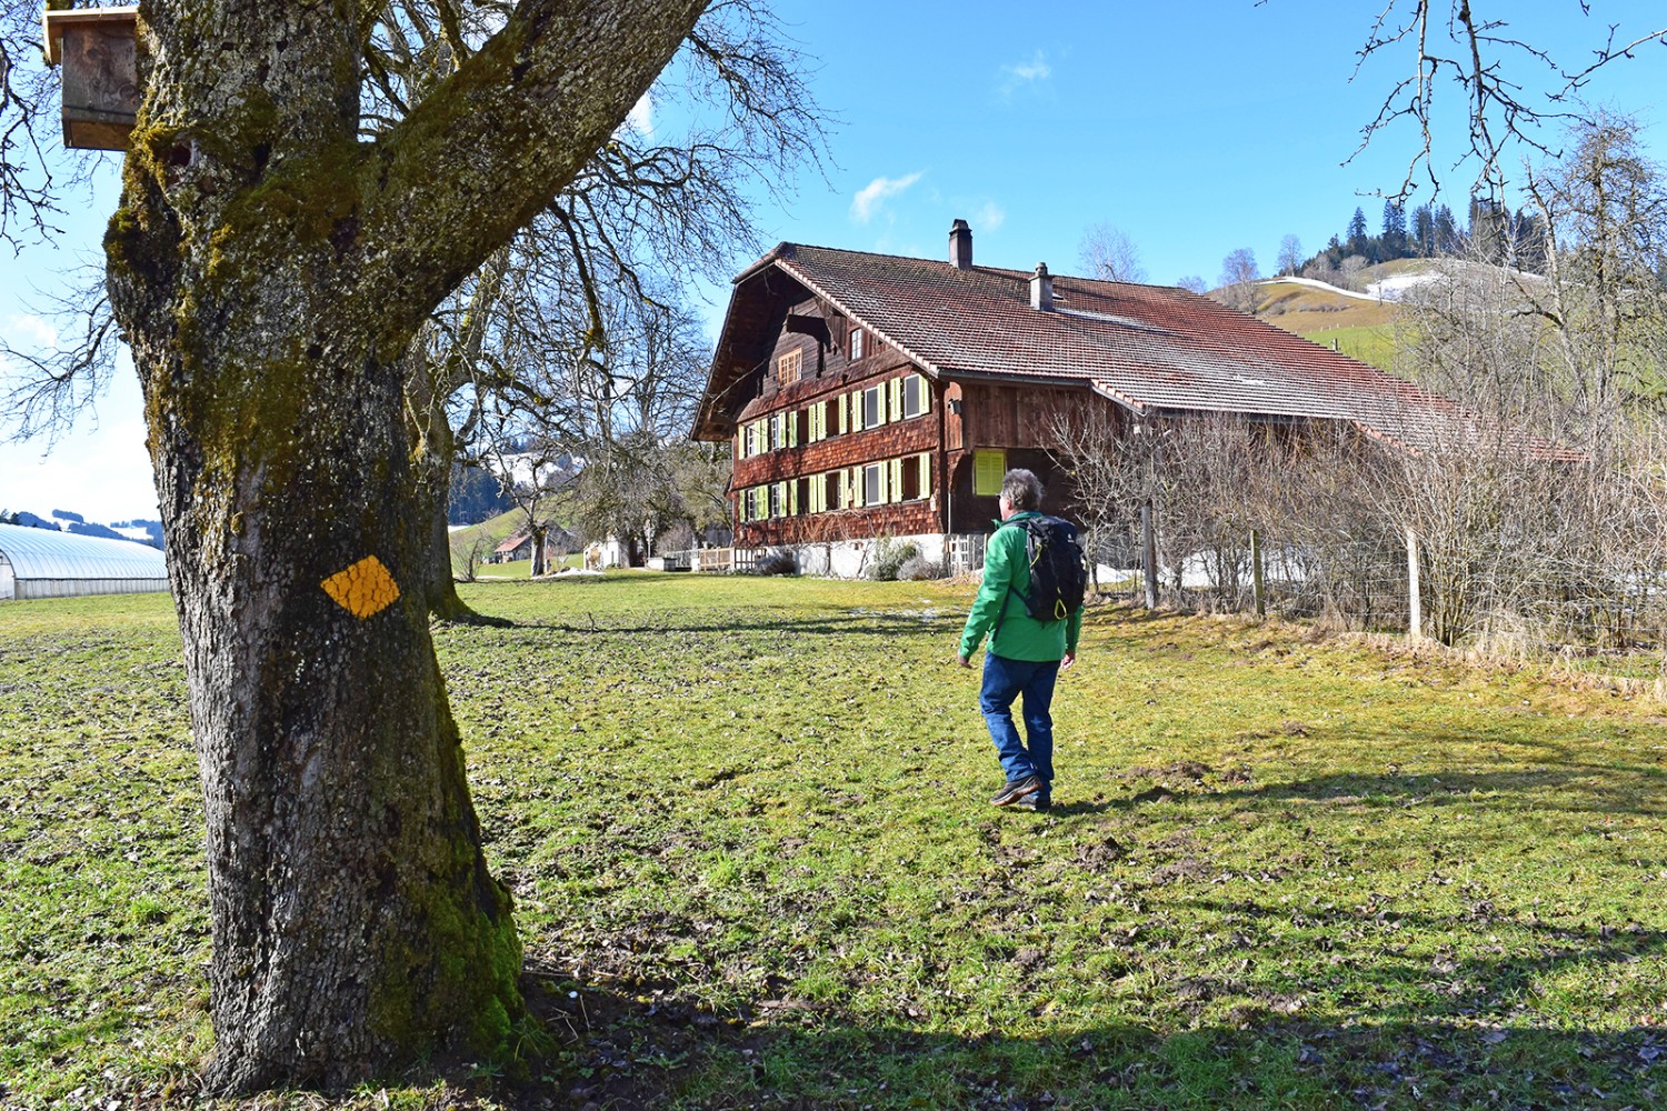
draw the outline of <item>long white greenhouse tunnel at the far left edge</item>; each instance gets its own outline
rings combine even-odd
[[[150,545],[0,525],[0,601],[163,590],[168,568]]]

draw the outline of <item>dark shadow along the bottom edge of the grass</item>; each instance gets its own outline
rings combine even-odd
[[[1252,1008],[1172,1033],[957,1036],[927,1029],[927,1016],[859,1024],[792,999],[715,1014],[553,969],[530,969],[525,988],[557,1053],[495,1093],[510,1108],[1645,1108],[1667,1098],[1667,1033],[1650,1026],[1310,1021]]]

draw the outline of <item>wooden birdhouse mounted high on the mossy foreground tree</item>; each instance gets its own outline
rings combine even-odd
[[[138,115],[138,7],[47,12],[47,62],[63,65],[63,145],[127,150]]]

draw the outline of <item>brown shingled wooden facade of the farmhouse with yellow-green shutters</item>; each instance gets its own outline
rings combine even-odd
[[[999,511],[990,475],[999,486],[1010,466],[1037,471],[1062,511],[1049,428],[1110,405],[1084,383],[934,376],[817,298],[787,306],[767,350],[738,390],[737,546],[984,531]]]

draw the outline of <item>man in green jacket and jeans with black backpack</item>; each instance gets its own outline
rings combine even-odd
[[[964,668],[990,635],[979,710],[1007,773],[990,801],[1024,810],[1047,810],[1054,801],[1054,681],[1077,660],[1087,585],[1077,530],[1040,508],[1042,481],[1022,468],[1007,471],[1002,523],[985,546],[984,585],[960,635]],[[1024,708],[1024,741],[1014,726],[1015,698]]]

